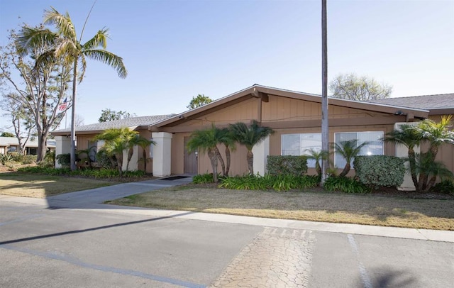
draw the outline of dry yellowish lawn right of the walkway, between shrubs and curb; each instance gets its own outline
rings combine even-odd
[[[157,209],[454,231],[454,201],[172,187],[109,201]]]

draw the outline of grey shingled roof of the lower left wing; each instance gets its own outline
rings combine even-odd
[[[76,133],[77,134],[92,134],[92,133],[99,133],[101,131],[104,131],[104,130],[110,129],[110,128],[124,128],[124,127],[131,128],[132,130],[135,130],[136,128],[145,128],[146,129],[149,125],[162,121],[173,115],[174,114],[140,116],[140,117],[133,117],[133,118],[107,121],[107,122],[101,122],[101,123],[94,123],[94,124],[89,124],[89,125],[84,125],[84,126],[77,126]],[[59,130],[55,130],[55,131],[51,132],[52,135],[67,135],[69,133],[71,133],[71,128],[59,129]]]

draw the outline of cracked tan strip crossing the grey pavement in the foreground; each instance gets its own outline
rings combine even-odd
[[[312,231],[265,228],[211,287],[307,287],[315,241]]]

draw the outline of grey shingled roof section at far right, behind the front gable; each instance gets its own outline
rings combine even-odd
[[[454,93],[377,99],[372,102],[377,104],[392,104],[395,106],[426,109],[429,110],[431,114],[438,114],[442,112],[440,110],[445,110],[443,113],[453,113],[454,111]],[[448,111],[448,109],[452,109],[453,111]]]

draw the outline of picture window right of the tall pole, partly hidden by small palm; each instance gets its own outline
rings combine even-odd
[[[358,140],[358,145],[367,142],[361,148],[359,155],[383,155],[383,142],[380,138],[383,138],[383,131],[373,132],[345,132],[345,133],[334,133],[334,138],[338,145],[341,145],[342,141]],[[339,153],[334,153],[334,165],[338,168],[345,167],[345,159]],[[353,167],[353,162],[350,163]]]

